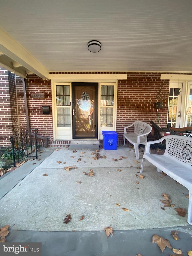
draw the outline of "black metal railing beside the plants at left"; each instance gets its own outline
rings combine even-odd
[[[10,137],[14,166],[16,166],[16,162],[22,161],[25,158],[36,156],[36,159],[38,159],[37,133],[38,129],[29,129]]]

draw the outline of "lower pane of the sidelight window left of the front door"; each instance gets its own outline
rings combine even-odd
[[[57,127],[70,127],[70,108],[57,108]]]

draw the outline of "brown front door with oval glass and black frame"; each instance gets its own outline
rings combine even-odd
[[[72,83],[73,139],[98,138],[98,83]]]

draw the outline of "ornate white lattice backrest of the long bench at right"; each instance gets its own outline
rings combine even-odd
[[[165,154],[192,166],[192,138],[178,135],[165,136]]]

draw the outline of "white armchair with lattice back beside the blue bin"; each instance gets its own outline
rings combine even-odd
[[[127,128],[134,125],[134,132],[127,133]],[[142,122],[135,121],[131,125],[124,127],[123,140],[125,145],[125,140],[131,142],[134,145],[136,159],[139,159],[139,145],[145,145],[147,142],[147,135],[151,132],[151,125]]]

